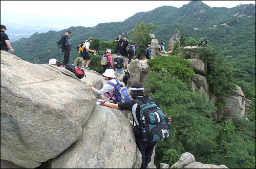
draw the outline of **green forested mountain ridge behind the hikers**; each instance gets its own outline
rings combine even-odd
[[[135,4],[136,5],[136,4]],[[220,54],[228,58],[234,66],[246,74],[246,80],[255,84],[255,5],[239,5],[234,8],[211,8],[201,1],[191,1],[181,8],[163,6],[149,12],[136,13],[123,22],[100,23],[95,27],[69,27],[71,58],[74,61],[78,53],[76,46],[89,37],[101,41],[112,41],[119,34],[129,37],[129,31],[136,24],[154,23],[152,30],[159,42],[167,48],[170,38],[178,41],[181,33],[185,38],[208,38],[208,42],[219,49]],[[65,29],[66,30],[66,29]],[[65,30],[48,33],[35,33],[11,45],[15,53],[23,60],[32,63],[47,63],[49,59],[63,60],[63,53],[56,45]]]

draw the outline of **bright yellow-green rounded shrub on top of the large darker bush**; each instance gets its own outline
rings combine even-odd
[[[174,55],[160,56],[148,60],[147,63],[153,71],[160,71],[164,68],[171,75],[177,76],[186,82],[189,82],[188,77],[195,76],[195,72],[191,69],[192,63]]]

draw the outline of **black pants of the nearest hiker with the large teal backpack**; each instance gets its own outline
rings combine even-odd
[[[142,134],[135,136],[135,142],[137,144],[137,147],[140,150],[141,153],[141,167],[140,168],[146,168],[147,164],[151,162],[151,156],[153,154],[154,147],[156,145],[156,142],[150,142],[147,140],[147,142],[143,142],[143,136]]]

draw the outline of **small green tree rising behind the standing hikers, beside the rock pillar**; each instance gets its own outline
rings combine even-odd
[[[148,44],[151,44],[152,38],[150,36],[150,31],[155,27],[153,23],[136,24],[135,31],[130,30],[132,40],[136,43],[136,55],[138,59],[144,57],[144,51]]]

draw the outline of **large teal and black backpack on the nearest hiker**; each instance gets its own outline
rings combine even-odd
[[[139,128],[145,127],[146,132],[150,136],[148,140],[150,142],[166,140],[169,136],[168,118],[155,103],[153,97],[147,97],[145,102],[139,99],[134,101],[140,106]]]

